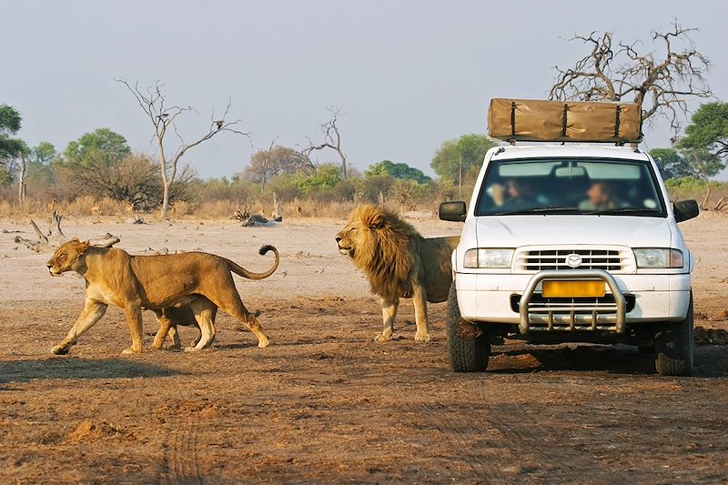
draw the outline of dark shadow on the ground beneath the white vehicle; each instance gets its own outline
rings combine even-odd
[[[519,345],[494,347],[490,372],[517,374],[550,370],[605,371],[614,374],[654,374],[654,354],[641,354],[626,345],[578,345],[538,348]],[[708,345],[695,349],[693,376],[728,378],[728,346]]]

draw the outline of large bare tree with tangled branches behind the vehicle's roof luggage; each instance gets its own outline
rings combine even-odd
[[[686,99],[713,96],[705,78],[710,61],[690,36],[696,31],[677,21],[668,32],[652,31],[652,43],[659,44],[655,50],[643,50],[639,40],[613,45],[613,32],[574,35],[569,40],[590,45],[591,52],[571,68],[554,67],[558,76],[549,97],[638,103],[642,119],[665,116],[677,136],[687,115]],[[656,55],[657,48],[662,56]]]

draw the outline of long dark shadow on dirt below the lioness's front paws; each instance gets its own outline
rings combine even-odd
[[[124,379],[167,377],[177,370],[128,359],[0,360],[0,384],[31,379]]]

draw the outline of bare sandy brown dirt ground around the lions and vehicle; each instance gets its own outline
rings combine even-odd
[[[211,349],[122,356],[120,311],[68,356],[50,349],[82,308],[83,281],[52,278],[49,255],[13,242],[23,220],[0,219],[0,482],[602,483],[728,482],[728,346],[701,346],[694,378],[654,374],[627,346],[494,348],[482,374],[446,360],[444,305],[430,344],[414,342],[411,302],[396,338],[364,278],[339,256],[339,220],[243,228],[234,221],[131,225],[64,220],[66,236],[121,237],[136,253],[203,249],[248,269],[236,278],[271,339],[217,319]],[[460,225],[412,221],[425,235]],[[728,217],[682,224],[698,259],[697,325],[728,328]],[[146,251],[146,253],[145,253]],[[183,341],[194,330],[181,328]]]

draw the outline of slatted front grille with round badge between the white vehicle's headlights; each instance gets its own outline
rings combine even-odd
[[[570,266],[572,255],[581,258],[581,264]],[[626,272],[634,265],[632,252],[620,248],[523,248],[515,258],[515,270],[537,272],[544,269],[603,269]]]

